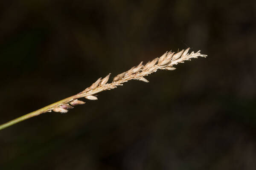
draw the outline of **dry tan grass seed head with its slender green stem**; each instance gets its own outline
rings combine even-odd
[[[118,74],[116,77],[113,78],[113,81],[111,83],[108,83],[108,79],[110,77],[110,74],[108,74],[103,79],[97,79],[96,82],[94,82],[90,87],[84,89],[84,91],[81,91],[80,93],[74,96],[67,97],[66,99],[62,99],[58,102],[52,103],[51,105],[45,106],[44,108],[41,108],[37,111],[33,111],[24,116],[20,116],[17,119],[11,120],[3,125],[0,125],[0,130],[11,125],[15,125],[16,123],[29,119],[31,117],[38,116],[42,113],[52,111],[67,113],[68,110],[74,108],[74,106],[85,104],[85,102],[79,100],[80,98],[97,100],[98,98],[94,96],[95,94],[102,91],[114,89],[119,85],[123,85],[124,82],[127,82],[129,80],[135,79],[143,82],[148,82],[148,80],[145,79],[145,76],[148,76],[149,74],[152,74],[157,70],[172,71],[176,69],[173,66],[177,65],[178,63],[183,63],[184,61],[190,60],[192,58],[207,57],[207,55],[201,54],[200,51],[196,53],[192,51],[191,53],[189,53],[189,49],[190,48],[187,48],[177,53],[167,51],[161,57],[155,58],[152,61],[146,63],[145,65],[143,65],[143,62],[140,62],[139,65],[132,67],[128,71]]]

